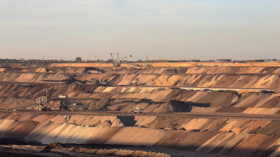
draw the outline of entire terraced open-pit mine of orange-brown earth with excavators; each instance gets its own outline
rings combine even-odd
[[[0,156],[276,157],[280,62],[2,66],[0,137]]]

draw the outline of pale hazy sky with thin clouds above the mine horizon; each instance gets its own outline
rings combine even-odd
[[[0,0],[2,59],[114,52],[133,61],[280,59],[280,0]]]

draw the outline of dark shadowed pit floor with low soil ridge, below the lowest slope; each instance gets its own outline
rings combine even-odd
[[[5,144],[3,145],[3,141]],[[20,145],[21,144],[21,145]],[[53,143],[54,144],[54,143]],[[18,156],[18,157],[27,157],[27,156],[96,156],[96,157],[105,157],[107,155],[106,151],[118,150],[119,155],[129,156],[129,152],[133,152],[133,156],[156,156],[160,157],[200,157],[200,156],[209,156],[209,157],[230,157],[229,155],[217,155],[205,152],[195,152],[188,150],[178,150],[178,149],[162,149],[156,147],[146,147],[146,146],[129,146],[129,145],[100,145],[100,144],[50,144],[46,145],[40,143],[32,143],[31,141],[25,141],[24,139],[16,138],[0,138],[0,155],[2,156]],[[76,148],[75,148],[76,147]],[[47,148],[47,150],[46,150]],[[74,149],[75,148],[75,149]],[[49,150],[50,149],[50,150]],[[93,154],[91,150],[103,150],[98,154]],[[83,150],[81,153],[76,151]],[[106,150],[106,151],[104,151]],[[114,153],[117,153],[116,151]],[[138,153],[138,155],[136,154]],[[139,154],[140,153],[140,154]],[[143,154],[144,153],[144,154]],[[110,154],[109,156],[114,156]]]

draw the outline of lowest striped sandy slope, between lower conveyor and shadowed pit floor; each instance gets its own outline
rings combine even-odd
[[[61,142],[152,146],[236,156],[240,156],[236,153],[246,146],[252,149],[251,152],[246,151],[248,152],[246,156],[250,156],[257,150],[266,150],[274,146],[274,141],[279,138],[279,129],[276,124],[279,122],[269,120],[15,114],[12,112],[1,114],[0,119],[6,119],[0,120],[2,136],[16,136],[28,141],[41,141],[43,144]],[[102,126],[102,123],[109,121],[110,126]],[[135,127],[140,125],[146,128]],[[186,131],[161,129],[167,127],[185,128]],[[247,144],[253,137],[259,139],[259,136],[262,139],[254,141],[259,145]],[[265,145],[261,144],[263,141],[266,141]],[[277,148],[273,150],[276,151]],[[261,155],[267,156],[271,153],[263,151]]]

